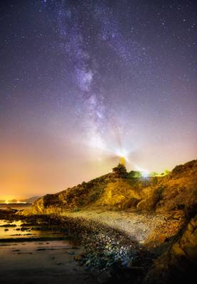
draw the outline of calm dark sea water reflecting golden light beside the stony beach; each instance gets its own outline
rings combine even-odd
[[[31,204],[0,204],[0,209],[27,209]],[[0,283],[93,284],[92,275],[75,261],[82,253],[68,231],[42,219],[0,219]]]

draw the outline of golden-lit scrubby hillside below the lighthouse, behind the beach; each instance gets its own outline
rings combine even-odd
[[[118,165],[110,174],[39,198],[33,203],[33,212],[50,214],[86,207],[192,217],[197,208],[197,160],[176,166],[164,177],[149,178],[136,178]]]

